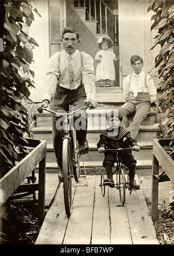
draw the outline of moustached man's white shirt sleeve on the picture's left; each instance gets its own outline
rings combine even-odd
[[[48,67],[46,69],[46,79],[44,83],[44,95],[42,96],[42,100],[50,100],[52,99],[57,86],[57,80],[59,80],[59,52],[55,53],[48,60]]]

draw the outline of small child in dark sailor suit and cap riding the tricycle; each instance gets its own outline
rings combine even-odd
[[[115,112],[115,111],[114,111]],[[107,124],[110,128],[100,134],[100,140],[97,143],[99,153],[104,152],[105,149],[120,149],[126,147],[133,147],[133,150],[139,151],[140,147],[136,144],[136,140],[131,137],[131,134],[127,129],[121,127],[122,116],[118,112],[117,115],[107,115]],[[115,131],[115,132],[114,132]],[[106,168],[107,179],[104,179],[103,184],[114,188],[113,181],[113,166],[116,161],[115,151],[106,151],[104,153],[103,166]],[[132,155],[131,150],[121,151],[122,163],[129,168],[129,186],[132,189],[139,189],[140,186],[135,181],[135,168],[136,160]]]

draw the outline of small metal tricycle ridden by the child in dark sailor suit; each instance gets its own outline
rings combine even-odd
[[[114,174],[116,174],[116,183],[114,183],[114,188],[117,188],[119,190],[119,199],[121,201],[122,206],[125,204],[125,197],[126,197],[126,189],[130,190],[130,194],[132,193],[131,186],[129,186],[129,174],[127,175],[127,179],[124,173],[124,168],[122,166],[122,159],[121,159],[121,151],[122,150],[133,150],[132,147],[126,147],[125,149],[106,149],[106,151],[115,151],[117,152],[116,155],[116,163],[117,167],[115,168],[115,171],[113,172],[113,178]],[[105,196],[105,190],[106,190],[106,185],[103,184],[104,182],[104,175],[101,175],[101,180],[100,180],[100,188],[102,189],[102,194]]]

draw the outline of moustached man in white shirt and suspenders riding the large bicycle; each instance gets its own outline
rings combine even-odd
[[[57,110],[77,110],[84,105],[95,103],[95,73],[93,59],[85,52],[78,51],[79,34],[74,28],[66,27],[61,34],[61,42],[64,50],[55,53],[48,61],[48,70],[44,86],[44,96],[37,109],[41,112],[41,107],[48,107]],[[81,115],[81,113],[79,113]],[[76,117],[75,117],[76,116]],[[74,121],[78,118],[76,114]],[[53,146],[57,158],[57,164],[62,169],[62,138],[63,129],[56,127],[56,121],[60,117],[52,115]],[[88,153],[88,141],[86,140],[87,119],[86,115],[81,117],[81,127],[77,131],[77,139],[82,153]]]

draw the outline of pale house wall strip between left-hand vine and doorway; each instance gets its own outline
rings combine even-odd
[[[30,37],[34,38],[38,43],[35,46],[34,63],[31,64],[31,70],[35,73],[35,88],[31,88],[30,99],[34,102],[41,102],[42,88],[45,81],[46,63],[50,57],[50,39],[49,39],[49,1],[32,2],[33,8],[37,8],[42,17],[34,13],[34,21],[29,28]]]

